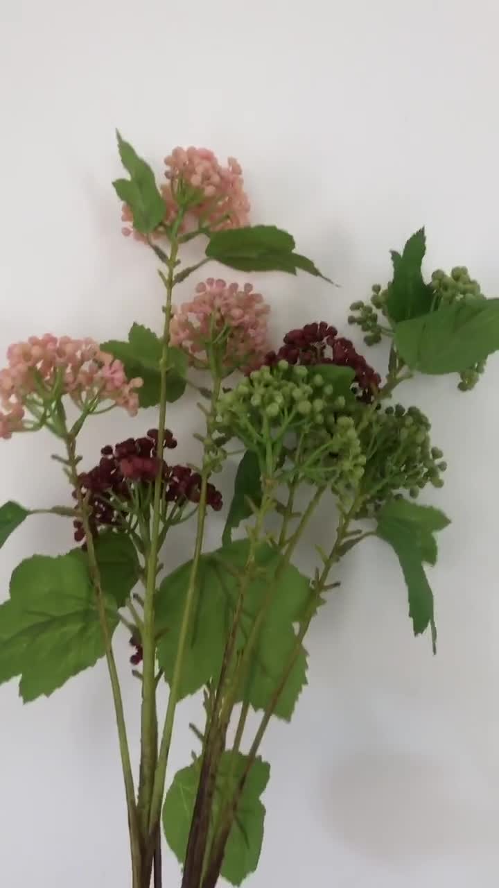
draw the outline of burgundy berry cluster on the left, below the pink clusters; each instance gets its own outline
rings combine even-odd
[[[159,472],[165,502],[199,503],[201,475],[186,465],[169,465],[164,459],[160,462],[157,439],[157,429],[149,429],[143,438],[127,438],[114,448],[107,445],[100,451],[99,464],[79,475],[80,490],[91,506],[92,533],[97,534],[103,526],[119,527],[123,521],[119,503],[130,502],[131,485],[154,484]],[[177,447],[177,440],[168,429],[164,432],[164,447]],[[76,491],[73,496],[76,498]],[[212,484],[208,485],[207,503],[215,511],[222,508],[222,495]],[[84,538],[83,525],[80,520],[75,520],[74,525],[75,540],[79,543]]]

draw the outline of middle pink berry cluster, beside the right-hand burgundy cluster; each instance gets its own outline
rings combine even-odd
[[[253,367],[268,350],[269,311],[264,297],[254,293],[250,283],[240,289],[237,283],[208,278],[176,310],[170,324],[171,342],[194,357],[206,358],[207,346],[219,336],[226,369]]]

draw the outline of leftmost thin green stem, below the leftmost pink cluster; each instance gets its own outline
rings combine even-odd
[[[71,483],[76,491],[80,517],[82,519],[83,530],[85,534],[85,543],[87,545],[87,557],[89,563],[89,572],[91,582],[95,591],[97,610],[99,614],[100,628],[102,637],[104,638],[104,648],[106,652],[107,670],[111,680],[111,689],[113,693],[113,702],[115,705],[115,718],[118,729],[118,741],[120,747],[120,756],[122,760],[123,781],[125,787],[125,796],[128,810],[128,821],[131,841],[131,862],[134,883],[139,884],[140,868],[141,868],[141,843],[139,833],[139,823],[137,820],[137,807],[135,804],[135,787],[133,783],[133,773],[131,770],[130,749],[128,745],[126,722],[123,709],[123,697],[116,669],[115,654],[111,643],[111,632],[107,623],[106,605],[104,602],[104,594],[100,582],[99,564],[95,554],[93,544],[93,536],[91,534],[90,515],[88,503],[86,502],[80,484],[78,482],[78,460],[75,452],[75,439],[69,433],[65,436],[67,447],[67,464]]]

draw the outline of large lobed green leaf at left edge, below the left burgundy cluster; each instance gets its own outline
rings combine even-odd
[[[0,683],[20,675],[24,702],[47,696],[104,655],[95,593],[81,551],[34,555],[16,567],[0,606]],[[115,602],[106,599],[111,633]]]

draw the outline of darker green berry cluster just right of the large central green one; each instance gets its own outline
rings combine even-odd
[[[447,464],[441,450],[432,447],[430,428],[430,420],[416,407],[397,404],[371,413],[360,432],[367,457],[361,496],[368,513],[403,490],[416,497],[427,484],[443,486]]]

